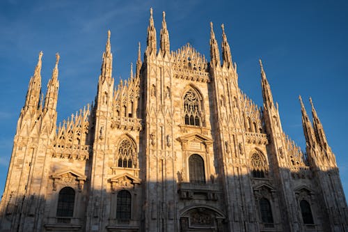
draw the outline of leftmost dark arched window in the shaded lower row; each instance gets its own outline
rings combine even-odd
[[[63,187],[59,192],[57,217],[73,217],[75,191],[71,187]]]

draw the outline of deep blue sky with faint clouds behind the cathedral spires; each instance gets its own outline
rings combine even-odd
[[[214,23],[219,44],[220,25],[225,24],[239,87],[259,106],[258,59],[262,58],[283,130],[303,150],[298,96],[302,95],[308,113],[311,96],[348,192],[348,1],[4,0],[0,2],[0,195],[38,52],[44,53],[44,93],[54,54],[61,54],[57,110],[58,122],[63,121],[95,98],[108,29],[113,76],[116,82],[127,79],[138,42],[142,52],[145,47],[150,7],[157,38],[161,13],[166,11],[173,50],[190,42],[209,57],[209,22]]]

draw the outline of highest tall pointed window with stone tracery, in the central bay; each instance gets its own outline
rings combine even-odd
[[[200,126],[200,99],[193,89],[184,95],[184,120],[186,125]]]

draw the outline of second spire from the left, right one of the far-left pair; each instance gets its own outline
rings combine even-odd
[[[51,79],[49,79],[49,82],[47,84],[47,93],[45,97],[44,111],[47,111],[47,109],[54,109],[54,111],[56,110],[57,100],[58,100],[58,88],[59,88],[59,82],[58,82],[59,59],[61,59],[61,56],[59,56],[59,54],[56,53],[56,65],[54,66],[52,77]]]

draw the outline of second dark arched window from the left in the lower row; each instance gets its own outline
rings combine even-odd
[[[132,196],[127,190],[121,190],[117,194],[116,219],[131,219]]]

